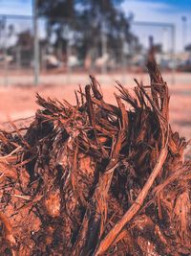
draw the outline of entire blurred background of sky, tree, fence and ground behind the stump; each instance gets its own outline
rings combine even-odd
[[[191,137],[190,0],[0,0],[0,123],[32,116],[36,92],[74,102],[89,74],[113,102],[115,81],[149,82],[151,44],[173,127]]]

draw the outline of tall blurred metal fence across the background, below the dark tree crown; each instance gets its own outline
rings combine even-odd
[[[86,28],[85,24],[83,26]],[[89,30],[86,35],[91,35]],[[46,83],[50,75],[54,76],[55,83],[59,76],[68,78],[62,80],[67,83],[74,74],[117,73],[123,77],[131,73],[142,74],[149,38],[153,38],[160,67],[169,70],[174,79],[173,24],[132,22],[131,41],[121,35],[114,46],[107,32],[102,30],[85,54],[80,36],[67,31],[66,26],[63,31],[62,40],[55,42],[55,34],[49,34],[43,19],[35,22],[29,16],[0,15],[0,84]]]

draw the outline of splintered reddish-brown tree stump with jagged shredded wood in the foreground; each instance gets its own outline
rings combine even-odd
[[[0,255],[190,255],[191,162],[169,122],[155,60],[150,85],[90,76],[76,105],[45,100],[29,128],[0,131]]]

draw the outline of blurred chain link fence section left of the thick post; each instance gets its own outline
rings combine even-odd
[[[32,83],[33,38],[31,17],[0,15],[0,84]]]

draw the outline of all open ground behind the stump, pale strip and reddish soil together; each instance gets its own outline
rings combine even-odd
[[[97,76],[98,81],[102,84],[104,98],[110,103],[115,103],[113,95],[117,91],[115,81],[121,81],[130,90],[135,86],[133,77],[138,81],[148,84],[148,76],[145,74],[127,75],[105,75]],[[19,79],[19,77],[18,77]],[[63,80],[62,80],[63,79]],[[181,136],[187,139],[191,138],[191,74],[179,74],[176,76],[176,83],[172,84],[172,74],[165,74],[164,79],[169,84],[170,89],[170,122],[173,129],[178,129]],[[20,81],[25,81],[25,76]],[[24,83],[17,82],[14,86],[0,86],[0,125],[9,120],[26,118],[34,115],[38,105],[35,103],[35,94],[38,92],[41,96],[47,98],[66,99],[70,103],[75,102],[74,89],[78,88],[80,83],[82,87],[89,82],[88,76],[75,75],[70,78],[60,76],[59,74],[41,78],[40,85],[32,86],[29,79]],[[54,84],[54,85],[53,85]],[[68,85],[66,85],[68,84]]]

